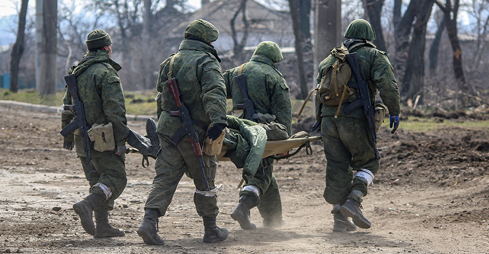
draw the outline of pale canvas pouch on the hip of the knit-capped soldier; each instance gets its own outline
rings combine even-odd
[[[94,123],[92,128],[88,130],[88,137],[94,142],[93,148],[99,152],[113,151],[116,148],[112,122],[107,124]]]

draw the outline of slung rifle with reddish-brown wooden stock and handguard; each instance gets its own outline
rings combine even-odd
[[[194,155],[197,157],[197,161],[199,162],[202,178],[204,178],[205,188],[207,189],[207,191],[209,191],[210,190],[209,183],[207,182],[209,178],[205,176],[205,172],[204,172],[204,157],[202,156],[202,147],[200,146],[199,143],[199,137],[195,132],[194,123],[190,116],[190,112],[188,112],[187,107],[183,105],[183,102],[180,99],[180,90],[178,90],[177,80],[175,78],[172,78],[165,81],[165,83],[170,89],[173,99],[175,99],[175,102],[177,103],[177,107],[178,107],[178,111],[172,111],[170,112],[170,115],[180,117],[180,122],[186,132],[186,135],[188,136],[188,140],[192,144],[192,148],[194,149]]]

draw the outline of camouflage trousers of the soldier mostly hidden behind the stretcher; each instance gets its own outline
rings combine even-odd
[[[260,189],[260,196],[249,190],[241,190],[239,197],[243,195],[252,195],[258,198],[258,211],[263,218],[264,223],[275,224],[282,220],[282,200],[280,199],[279,185],[274,175],[274,159],[263,158],[265,167],[259,167],[256,174],[251,178],[247,185],[254,185]]]

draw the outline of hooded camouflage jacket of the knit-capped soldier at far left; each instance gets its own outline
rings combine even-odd
[[[98,50],[88,52],[77,66],[71,67],[68,73],[76,75],[78,97],[85,107],[88,128],[90,129],[94,123],[112,122],[116,146],[124,145],[129,133],[121,79],[117,74],[120,69],[121,66],[108,57],[108,50]],[[66,89],[63,104],[73,104],[68,89]],[[61,127],[64,128],[71,119],[73,115],[63,114]],[[73,134],[69,134],[64,140],[72,142]],[[74,142],[76,154],[85,157],[82,139],[75,136]],[[101,154],[92,149],[92,156],[97,157]]]

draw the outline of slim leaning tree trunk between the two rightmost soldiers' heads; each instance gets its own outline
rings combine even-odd
[[[301,98],[306,99],[308,94],[306,73],[304,71],[304,53],[302,47],[302,36],[299,27],[299,14],[297,11],[297,0],[288,0],[290,15],[292,16],[292,29],[295,37],[295,55],[297,56],[297,68],[299,69],[299,87],[301,87]]]

